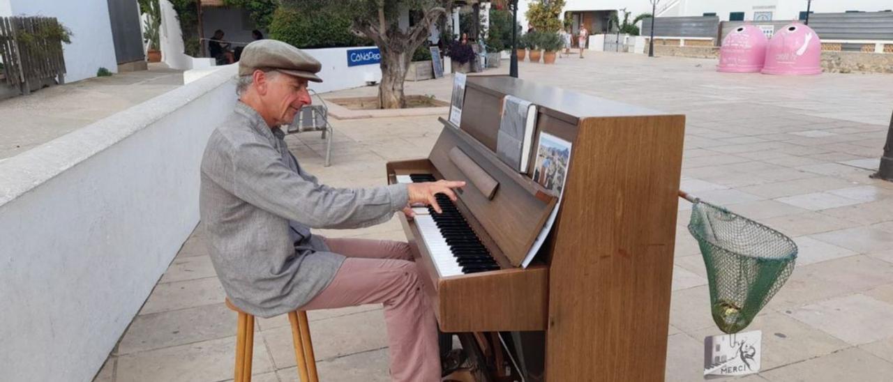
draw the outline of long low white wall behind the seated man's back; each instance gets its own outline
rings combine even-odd
[[[0,162],[0,380],[88,381],[198,222],[235,67]]]

